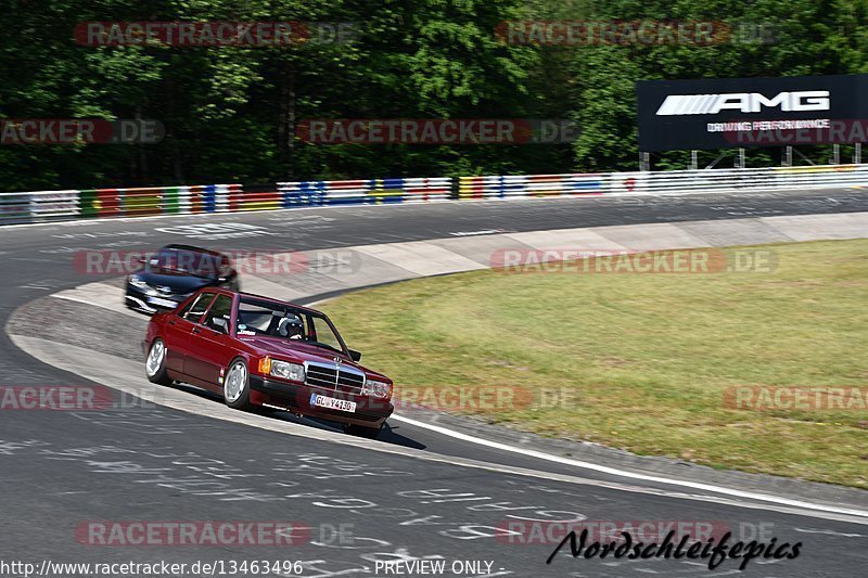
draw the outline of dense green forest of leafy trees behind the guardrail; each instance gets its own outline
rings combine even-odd
[[[154,119],[164,130],[156,143],[4,140],[4,191],[633,170],[636,80],[868,72],[868,0],[0,1],[0,119]],[[509,23],[526,21],[707,22],[726,34],[512,38]],[[306,24],[280,44],[178,46],[89,42],[93,22]],[[565,119],[579,130],[558,144],[299,138],[299,126],[331,118]],[[775,154],[752,151],[749,165]],[[688,157],[653,165],[684,168]]]

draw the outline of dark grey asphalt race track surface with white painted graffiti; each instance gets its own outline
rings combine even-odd
[[[309,251],[486,232],[866,210],[868,194],[843,190],[331,207],[0,228],[0,258],[5,265],[0,282],[0,320],[7,326],[13,311],[25,306],[46,337],[62,337],[54,342],[76,343],[77,334],[87,331],[97,335],[82,336],[81,344],[116,341],[119,350],[128,351],[129,341],[140,332],[144,318],[106,317],[116,324],[100,326],[99,320],[69,314],[75,308],[53,310],[41,305],[51,293],[94,281],[72,265],[74,255],[85,249],[155,248],[169,242],[190,242]],[[186,228],[202,223],[243,227],[230,239],[214,239],[213,234],[206,239],[208,233],[202,228]],[[36,304],[27,305],[33,301]],[[88,385],[81,377],[18,350],[5,332],[0,339],[0,388]],[[100,355],[92,352],[93,359]],[[141,365],[128,357],[118,365],[119,372],[127,363]],[[82,349],[80,362],[86,365],[88,361]],[[141,378],[141,374],[135,377]],[[180,395],[196,397],[193,391]],[[215,413],[229,412],[216,401],[213,406]],[[864,517],[576,470],[532,455],[463,444],[405,422],[391,423],[382,444],[346,436],[336,442],[336,434],[317,424],[306,425],[311,432],[307,438],[296,433],[297,420],[289,416],[230,413],[241,421],[146,403],[104,412],[3,411],[3,557],[37,565],[47,560],[188,564],[301,561],[305,568],[301,575],[311,577],[387,575],[378,562],[396,560],[446,561],[447,568],[454,562],[492,564],[446,574],[476,577],[863,574],[868,547],[868,519]],[[444,422],[450,426],[460,423]],[[290,426],[296,429],[288,435],[283,429]],[[490,429],[480,426],[475,433],[490,435]],[[536,448],[538,441],[528,442],[513,434],[505,435],[505,439],[516,444],[524,440],[528,449]],[[601,451],[601,459],[607,455]],[[673,467],[677,464],[661,465],[662,471]],[[709,475],[716,480],[730,476],[733,484],[746,479],[728,473]],[[786,497],[792,489],[818,503],[868,510],[864,492],[856,490],[752,479],[766,484],[768,493]],[[285,548],[94,543],[101,535],[94,538],[93,528],[100,524],[191,521],[292,522],[295,543]],[[528,544],[523,543],[525,536],[510,539],[503,531],[539,528],[554,521],[704,524],[715,531],[729,529],[736,539],[744,541],[769,542],[775,538],[778,544],[803,545],[796,560],[757,558],[743,573],[738,571],[739,562],[735,560],[710,570],[702,560],[573,560],[565,553],[569,549],[547,565],[557,540],[538,543],[546,540],[537,539]]]

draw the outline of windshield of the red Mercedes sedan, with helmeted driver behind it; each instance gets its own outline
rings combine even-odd
[[[326,316],[291,305],[242,297],[237,326],[239,337],[275,337],[346,354],[343,339]]]

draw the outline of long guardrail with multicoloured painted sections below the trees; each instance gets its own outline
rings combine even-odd
[[[297,181],[0,193],[0,224],[447,198],[662,194],[868,185],[868,165]]]

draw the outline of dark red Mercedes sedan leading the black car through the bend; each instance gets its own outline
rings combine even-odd
[[[184,382],[253,406],[343,424],[375,438],[392,415],[392,380],[358,363],[320,311],[259,295],[206,287],[155,314],[142,347],[157,384]]]

